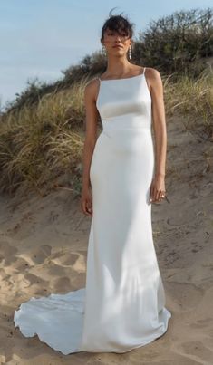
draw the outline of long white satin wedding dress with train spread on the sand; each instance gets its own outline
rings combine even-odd
[[[145,69],[144,69],[145,72]],[[126,352],[168,329],[152,239],[151,97],[145,73],[100,79],[102,132],[92,155],[86,287],[22,303],[15,327],[54,350]]]

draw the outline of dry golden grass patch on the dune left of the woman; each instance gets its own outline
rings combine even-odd
[[[45,95],[36,107],[10,113],[0,124],[1,191],[51,186],[66,171],[73,181],[80,175],[83,88],[82,82]]]

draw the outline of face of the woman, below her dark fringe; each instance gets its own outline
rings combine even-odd
[[[102,45],[105,46],[107,54],[124,55],[128,52],[131,46],[131,38],[125,31],[112,31],[106,29],[103,34]]]

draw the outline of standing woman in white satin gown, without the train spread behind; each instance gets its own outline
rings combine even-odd
[[[166,122],[160,73],[128,60],[130,22],[111,16],[101,42],[106,71],[85,88],[81,207],[92,226],[82,349],[125,352],[160,337],[171,317],[150,221],[150,202],[165,197]]]

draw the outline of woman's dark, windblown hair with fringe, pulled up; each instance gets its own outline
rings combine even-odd
[[[115,8],[113,7],[113,9]],[[105,23],[102,26],[102,39],[104,36],[104,32],[107,29],[110,29],[111,31],[116,31],[119,34],[124,32],[127,35],[129,35],[130,38],[132,38],[134,24],[130,22],[127,16],[126,17],[122,16],[122,13],[119,15],[112,15],[111,12],[113,9],[111,9],[109,18],[105,21]]]

